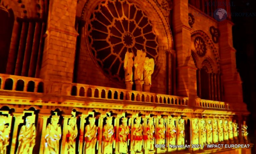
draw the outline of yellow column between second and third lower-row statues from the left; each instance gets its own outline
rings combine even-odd
[[[39,115],[39,116],[40,116],[40,118],[42,118],[42,121],[40,121],[40,128],[39,128],[42,130],[39,154],[44,154],[45,130],[46,130],[47,119],[50,117],[50,115]]]

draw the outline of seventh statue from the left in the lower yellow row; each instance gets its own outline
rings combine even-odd
[[[128,153],[127,136],[130,133],[130,129],[127,126],[127,118],[122,118],[122,125],[119,126],[119,149],[120,153]]]

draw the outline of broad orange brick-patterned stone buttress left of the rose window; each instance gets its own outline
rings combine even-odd
[[[74,27],[77,1],[50,0],[49,4],[40,78],[72,82],[78,35]]]

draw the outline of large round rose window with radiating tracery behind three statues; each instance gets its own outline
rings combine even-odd
[[[124,79],[124,56],[145,51],[155,63],[158,43],[145,13],[129,1],[106,0],[91,15],[88,39],[92,55],[109,76]]]

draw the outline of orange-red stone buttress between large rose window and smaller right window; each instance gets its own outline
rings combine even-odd
[[[196,67],[191,56],[191,28],[188,25],[188,1],[173,1],[173,32],[177,56],[177,93],[196,105]]]

